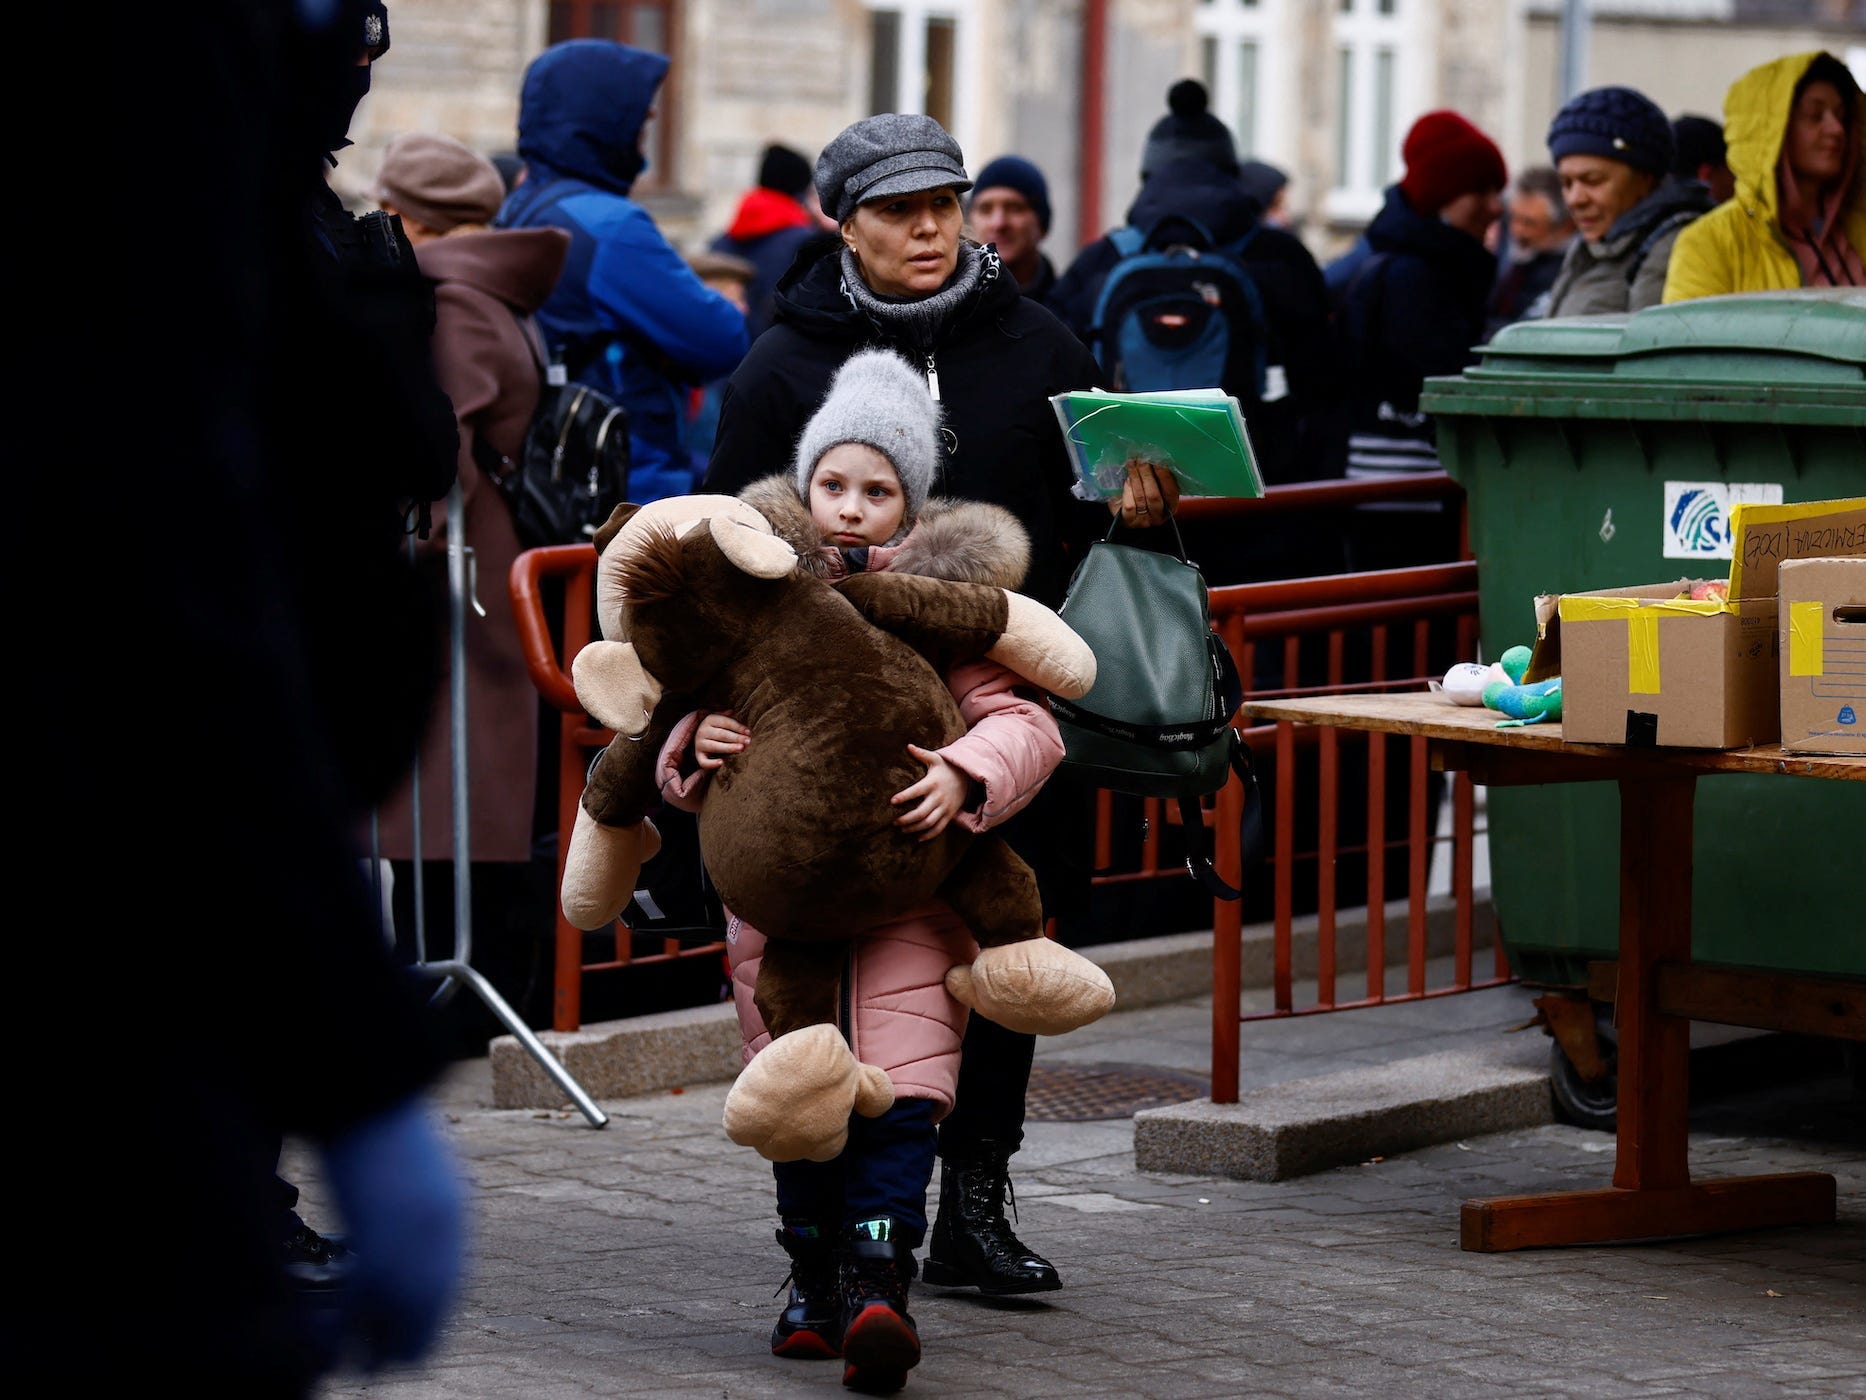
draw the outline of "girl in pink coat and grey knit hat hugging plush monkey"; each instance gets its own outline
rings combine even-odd
[[[901,571],[1015,588],[1028,564],[1023,526],[996,506],[927,502],[939,452],[939,403],[926,379],[898,355],[864,351],[838,371],[789,474],[746,487],[745,500],[829,579]],[[901,808],[896,825],[918,840],[952,821],[972,831],[1004,821],[1064,752],[1041,693],[1002,665],[967,661],[944,681],[967,722],[963,737],[924,749],[914,735],[877,735],[926,765],[926,777],[892,793]],[[730,713],[689,715],[661,752],[662,799],[696,810],[713,775],[756,741]],[[731,911],[726,937],[750,1064],[769,1042],[752,1001],[765,939]],[[856,1391],[896,1391],[920,1361],[907,1290],[927,1230],[935,1126],[954,1103],[967,1017],[942,978],[974,954],[970,931],[944,902],[879,922],[851,943],[842,1030],[860,1062],[888,1071],[894,1107],[877,1118],[853,1114],[849,1142],[830,1161],[773,1165],[791,1292],[771,1350],[842,1355],[843,1385]]]

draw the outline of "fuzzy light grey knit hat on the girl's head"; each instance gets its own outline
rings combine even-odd
[[[842,442],[866,442],[894,463],[907,497],[901,525],[912,525],[939,470],[939,403],[926,375],[892,351],[860,351],[843,360],[823,407],[797,439],[797,495],[806,502],[815,465]]]

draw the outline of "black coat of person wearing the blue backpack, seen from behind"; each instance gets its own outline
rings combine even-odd
[[[1321,269],[1295,233],[1273,224],[1260,226],[1261,205],[1235,177],[1222,175],[1204,161],[1172,161],[1161,166],[1127,211],[1127,224],[1144,233],[1163,230],[1170,220],[1194,220],[1215,245],[1235,243],[1256,228],[1245,245],[1245,273],[1263,299],[1263,319],[1273,343],[1269,362],[1280,364],[1289,392],[1282,399],[1250,413],[1250,441],[1265,482],[1306,482],[1340,476],[1342,467],[1330,433],[1336,375],[1329,334],[1329,293]],[[1049,295],[1049,308],[1090,343],[1095,302],[1108,273],[1121,259],[1107,237],[1075,256]],[[1226,386],[1245,398],[1233,386]]]

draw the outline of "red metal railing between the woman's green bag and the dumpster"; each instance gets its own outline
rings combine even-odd
[[[1394,500],[1461,500],[1461,489],[1442,472],[1420,474],[1400,482],[1302,482],[1269,487],[1261,500],[1189,498],[1179,506],[1181,519],[1252,519],[1260,515],[1344,510],[1357,504]],[[1467,551],[1469,553],[1469,551]],[[1455,659],[1476,655],[1478,595],[1476,564],[1426,566],[1388,569],[1379,573],[1342,573],[1314,579],[1288,579],[1217,586],[1211,590],[1213,625],[1230,644],[1245,676],[1246,698],[1271,698],[1304,693],[1344,691],[1407,691],[1422,689],[1427,679],[1442,674],[1442,661],[1433,661],[1433,642],[1439,651]],[[1448,648],[1446,648],[1448,638]],[[1351,648],[1351,642],[1355,644]],[[1269,659],[1260,653],[1269,650]],[[1349,653],[1358,653],[1358,663]],[[1304,672],[1308,679],[1304,683]],[[1493,973],[1478,980],[1474,974],[1474,788],[1467,775],[1450,780],[1452,799],[1452,980],[1427,986],[1427,875],[1435,833],[1427,812],[1427,767],[1424,741],[1401,739],[1344,739],[1338,732],[1317,732],[1297,726],[1256,726],[1245,730],[1246,741],[1263,784],[1265,819],[1274,846],[1267,862],[1252,879],[1274,879],[1273,903],[1273,1010],[1245,1015],[1243,999],[1243,926],[1245,911],[1235,902],[1213,902],[1213,1014],[1211,1014],[1211,1098],[1215,1103],[1235,1103],[1239,1086],[1239,1027],[1246,1019],[1308,1015],[1316,1012],[1373,1006],[1394,1001],[1416,1001],[1455,991],[1497,986],[1510,980],[1502,943],[1493,941]],[[1364,840],[1342,844],[1340,775],[1344,743],[1360,745],[1347,752],[1366,769]],[[1394,756],[1388,749],[1405,745],[1403,782],[1407,784],[1407,816],[1403,831],[1388,834],[1386,793]],[[1299,762],[1310,762],[1314,780],[1302,788],[1317,805],[1316,834],[1308,846],[1297,844]],[[1215,829],[1218,874],[1239,885],[1241,853],[1237,823],[1243,790],[1233,780],[1207,808]],[[1183,879],[1183,870],[1170,861],[1161,864],[1161,819],[1172,823],[1172,805],[1148,803],[1144,808],[1146,838],[1140,861],[1131,870],[1108,870],[1114,846],[1108,829],[1110,797],[1101,795],[1097,829],[1097,883],[1125,883],[1138,879]],[[1386,982],[1386,851],[1407,855],[1407,958],[1405,991],[1388,995]],[[1338,862],[1344,857],[1362,857],[1364,879],[1355,889],[1338,883]],[[1295,915],[1293,887],[1301,866],[1316,870],[1316,1001],[1295,1004]],[[1366,982],[1362,995],[1338,995],[1338,924],[1342,909],[1366,909]]]

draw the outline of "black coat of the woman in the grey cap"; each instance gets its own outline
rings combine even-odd
[[[829,381],[858,349],[914,364],[929,351],[890,338],[842,295],[842,245],[799,259],[778,284],[776,319],[726,383],[702,491],[737,495],[786,470]],[[896,332],[898,334],[898,332]],[[1051,394],[1101,383],[1093,357],[1051,312],[1000,273],[931,345],[946,457],[935,495],[1004,506],[1030,532],[1024,592],[1054,607],[1107,506],[1077,500]]]

